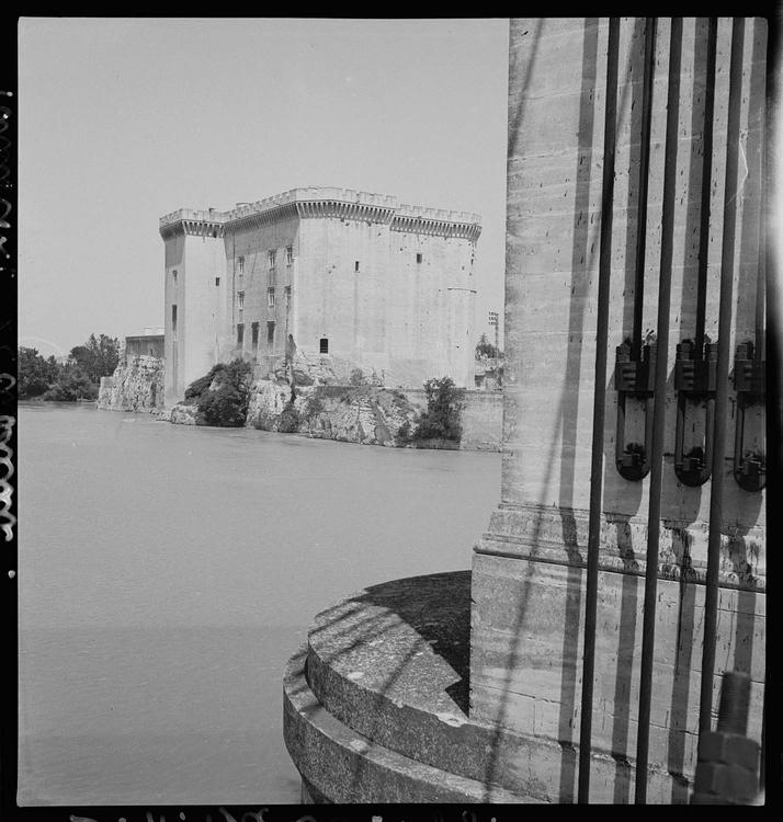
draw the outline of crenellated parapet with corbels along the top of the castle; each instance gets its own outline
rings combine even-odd
[[[160,233],[167,237],[181,225],[185,233],[223,237],[226,230],[293,216],[384,222],[396,231],[466,237],[474,241],[481,231],[478,214],[405,205],[387,194],[314,186],[292,189],[227,212],[179,208],[160,218]]]

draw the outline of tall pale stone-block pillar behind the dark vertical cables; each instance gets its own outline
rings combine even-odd
[[[696,762],[710,482],[673,470],[677,343],[694,335],[706,20],[686,19],[680,89],[663,496],[648,801],[688,801]],[[621,23],[617,155],[605,406],[591,801],[633,801],[633,761],[649,477],[614,465],[615,346],[631,334],[645,19]],[[506,375],[501,501],[473,563],[472,718],[552,744],[547,791],[575,801],[581,694],[595,312],[601,225],[606,19],[514,20],[510,36]],[[644,328],[655,330],[668,88],[668,19],[658,22]],[[730,20],[720,19],[706,332],[717,339]],[[754,339],[767,32],[746,21],[731,351]],[[661,353],[659,352],[659,356]],[[731,388],[716,673],[751,676],[748,733],[760,738],[764,674],[764,494],[733,477]],[[695,409],[700,435],[703,411]],[[642,404],[628,400],[640,438]],[[751,419],[752,418],[752,419]],[[751,414],[748,434],[763,449]],[[717,708],[720,676],[715,677]],[[520,788],[532,765],[519,764]],[[491,778],[491,775],[490,775]]]

